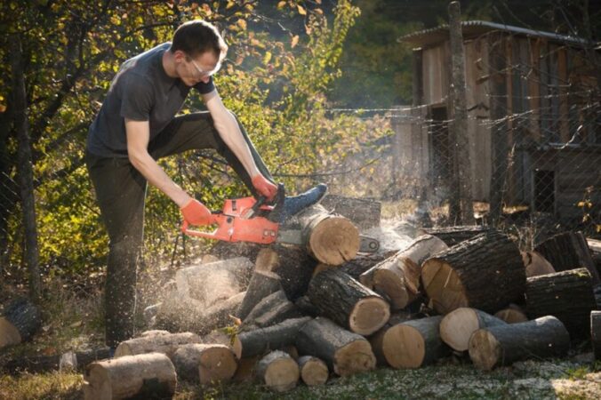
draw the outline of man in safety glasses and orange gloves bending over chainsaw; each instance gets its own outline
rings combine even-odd
[[[172,43],[126,60],[90,126],[86,164],[110,239],[105,284],[106,342],[115,348],[133,334],[136,264],[143,236],[147,182],[180,207],[190,225],[212,223],[211,212],[176,185],[156,163],[195,148],[224,156],[253,196],[276,196],[276,185],[236,116],[221,102],[212,75],[227,45],[202,20],[177,28]],[[200,92],[208,112],[175,116],[188,92]],[[286,197],[284,215],[316,204],[318,185]]]

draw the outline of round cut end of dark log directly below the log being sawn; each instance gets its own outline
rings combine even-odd
[[[370,335],[378,331],[390,318],[390,307],[381,297],[371,296],[358,300],[349,316],[352,332]]]

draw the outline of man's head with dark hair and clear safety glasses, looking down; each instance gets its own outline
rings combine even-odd
[[[178,66],[178,75],[186,84],[208,82],[221,65],[228,45],[212,24],[191,20],[173,34],[170,52]]]

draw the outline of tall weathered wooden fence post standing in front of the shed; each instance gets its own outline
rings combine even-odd
[[[454,173],[461,206],[461,224],[474,224],[472,204],[471,162],[469,158],[468,108],[465,87],[465,52],[461,32],[461,5],[458,1],[449,4],[449,33],[451,40],[451,64],[453,68],[453,118],[449,124],[453,146]],[[455,192],[456,193],[456,192]],[[453,195],[452,195],[453,196]],[[456,204],[456,202],[455,202]],[[453,202],[452,202],[453,205]]]

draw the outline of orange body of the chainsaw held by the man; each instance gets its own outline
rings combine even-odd
[[[217,228],[213,232],[203,232],[188,228],[184,220],[181,230],[189,236],[199,236],[208,239],[217,239],[227,242],[252,242],[258,244],[272,244],[276,242],[279,224],[265,217],[254,216],[261,210],[271,212],[273,206],[260,205],[256,208],[257,200],[254,197],[243,197],[226,200],[221,212],[213,212],[213,220]]]

